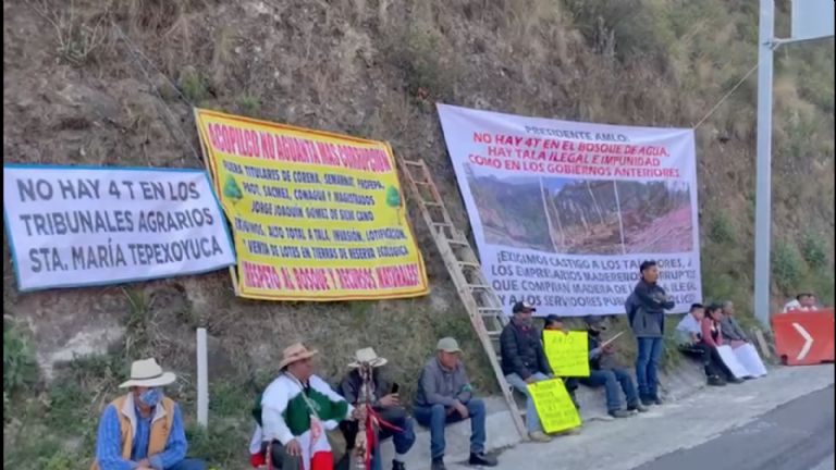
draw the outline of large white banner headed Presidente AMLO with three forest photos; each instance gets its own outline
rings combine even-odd
[[[509,313],[624,313],[639,264],[688,311],[701,299],[691,129],[439,104],[482,269]]]

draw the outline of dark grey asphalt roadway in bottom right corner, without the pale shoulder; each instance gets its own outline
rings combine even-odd
[[[832,385],[636,470],[833,470],[833,404]]]

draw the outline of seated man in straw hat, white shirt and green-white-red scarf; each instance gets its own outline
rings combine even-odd
[[[318,354],[302,343],[286,347],[279,362],[281,373],[261,395],[260,409],[254,411],[259,426],[250,453],[258,443],[261,455],[269,447],[274,469],[332,470],[335,459],[329,431],[334,431],[340,421],[362,418],[359,410],[314,374],[311,359]]]

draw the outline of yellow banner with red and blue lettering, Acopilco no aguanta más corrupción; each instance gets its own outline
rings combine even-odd
[[[429,292],[386,143],[195,110],[238,253],[237,293],[268,300]]]

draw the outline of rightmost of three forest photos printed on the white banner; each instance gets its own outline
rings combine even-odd
[[[691,191],[686,182],[617,182],[629,253],[690,251],[693,244]]]

